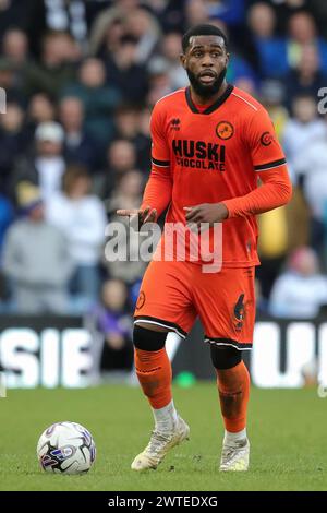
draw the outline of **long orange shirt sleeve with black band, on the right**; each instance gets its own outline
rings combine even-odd
[[[249,194],[223,201],[228,217],[246,217],[271,211],[287,204],[292,195],[283,151],[264,108],[252,118],[246,141],[253,170],[262,186]]]

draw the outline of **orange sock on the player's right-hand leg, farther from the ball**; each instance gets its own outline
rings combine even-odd
[[[250,374],[244,361],[232,369],[216,371],[225,428],[231,433],[237,433],[246,426]]]

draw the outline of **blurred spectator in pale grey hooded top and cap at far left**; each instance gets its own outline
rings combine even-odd
[[[19,186],[23,217],[8,230],[3,273],[11,281],[19,313],[66,313],[72,262],[61,230],[45,220],[40,191]]]

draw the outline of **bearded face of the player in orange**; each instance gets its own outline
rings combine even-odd
[[[227,72],[229,53],[220,36],[193,36],[181,62],[192,87],[198,96],[209,98],[221,87]]]

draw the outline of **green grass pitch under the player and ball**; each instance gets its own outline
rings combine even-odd
[[[152,414],[136,387],[9,391],[0,399],[0,490],[326,490],[327,398],[315,389],[252,389],[247,473],[219,473],[222,425],[215,383],[174,387],[191,440],[157,470],[137,474],[133,457],[148,441]],[[85,425],[97,460],[83,476],[43,473],[35,448],[50,423]]]

